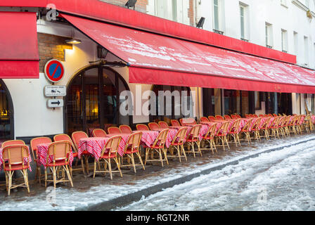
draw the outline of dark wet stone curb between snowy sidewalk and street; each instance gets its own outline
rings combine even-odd
[[[309,138],[309,139],[303,139],[302,141],[293,141],[292,143],[289,144],[285,144],[283,143],[282,145],[273,148],[265,148],[263,150],[259,150],[258,152],[255,151],[255,153],[249,154],[249,155],[243,155],[240,156],[238,158],[233,158],[231,160],[227,160],[226,162],[219,162],[219,163],[215,163],[212,164],[210,166],[205,166],[203,168],[200,169],[193,169],[193,171],[188,172],[188,174],[181,176],[179,178],[173,178],[174,179],[165,179],[165,181],[163,182],[161,179],[160,180],[160,184],[156,184],[153,186],[146,186],[145,188],[141,189],[140,191],[136,191],[133,193],[128,193],[126,195],[122,195],[120,197],[117,198],[113,198],[111,200],[106,200],[103,201],[102,203],[96,203],[94,205],[89,205],[87,207],[78,207],[75,210],[78,211],[103,211],[103,210],[113,210],[117,207],[122,207],[124,205],[128,205],[129,203],[132,203],[134,201],[138,201],[141,200],[141,198],[143,198],[143,196],[146,198],[149,195],[152,195],[154,193],[158,193],[160,191],[163,191],[165,188],[172,188],[175,185],[178,184],[183,184],[187,181],[191,181],[192,179],[201,176],[201,175],[205,175],[205,174],[210,174],[211,172],[217,171],[219,169],[223,169],[224,167],[230,166],[230,165],[238,165],[239,162],[241,161],[245,161],[248,160],[250,158],[257,158],[259,155],[261,155],[262,153],[270,153],[276,150],[282,150],[283,148],[289,148],[291,146],[296,146],[299,145],[301,143],[306,143],[308,141],[313,141],[315,140],[314,138]],[[178,177],[178,176],[176,176]]]

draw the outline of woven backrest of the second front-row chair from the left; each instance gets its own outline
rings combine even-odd
[[[56,160],[69,160],[70,151],[70,141],[54,141],[49,145],[46,164],[48,164],[49,155],[53,155],[53,163],[55,163]]]

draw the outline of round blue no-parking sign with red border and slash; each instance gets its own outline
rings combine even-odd
[[[44,72],[51,82],[60,82],[63,75],[65,75],[65,68],[59,60],[52,59],[46,63]]]

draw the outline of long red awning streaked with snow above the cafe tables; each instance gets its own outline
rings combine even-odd
[[[276,60],[65,15],[129,65],[129,82],[315,93],[315,71]]]

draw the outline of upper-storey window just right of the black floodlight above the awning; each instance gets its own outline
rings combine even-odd
[[[213,0],[213,30],[224,33],[224,0]]]

